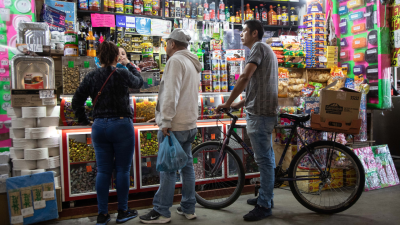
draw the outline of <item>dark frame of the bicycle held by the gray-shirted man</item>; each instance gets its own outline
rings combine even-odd
[[[216,162],[216,166],[212,169],[211,174],[214,174],[222,165],[223,160],[225,159],[226,156],[226,152],[224,151],[225,146],[229,145],[229,139],[231,138],[231,136],[233,136],[236,141],[243,147],[243,149],[245,151],[247,151],[247,153],[255,160],[254,158],[254,152],[250,149],[250,147],[248,147],[244,141],[239,137],[239,135],[236,134],[236,132],[233,130],[234,128],[243,128],[243,125],[236,125],[236,121],[238,120],[238,118],[234,115],[232,115],[231,113],[227,113],[228,116],[230,116],[232,118],[232,123],[229,127],[229,130],[224,138],[224,142],[222,144],[221,147],[221,151],[220,151],[220,155],[218,158],[218,161]],[[307,145],[305,144],[305,142],[303,141],[303,139],[298,135],[297,133],[297,127],[301,127],[303,129],[310,129],[311,128],[307,128],[304,127],[300,122],[296,122],[294,121],[294,125],[291,126],[285,126],[283,128],[290,128],[291,132],[290,132],[290,136],[289,136],[289,140],[291,140],[295,134],[297,134],[297,136],[300,139],[300,142],[305,146],[307,152],[309,153],[309,155],[311,156],[312,161],[314,162],[314,164],[317,166],[318,170],[321,172],[321,174],[324,174],[325,171],[322,169],[322,167],[319,165],[319,163],[317,162],[317,160],[315,159],[314,155],[312,154],[311,150],[308,149]],[[289,145],[290,142],[288,141],[285,145],[285,149],[281,155],[281,158],[279,160],[279,163],[276,167],[276,169],[280,169],[282,168],[282,164],[283,164],[283,160],[285,158],[286,152],[289,149]],[[333,146],[334,147],[334,146]],[[330,155],[330,158],[332,157],[332,155]],[[329,163],[329,167],[330,167],[330,163]],[[325,168],[327,169],[327,168]],[[284,177],[276,177],[276,181],[297,181],[297,180],[314,180],[316,179],[316,176],[318,175],[313,175],[313,176],[298,176],[298,178],[284,178]],[[306,178],[307,177],[307,178]]]

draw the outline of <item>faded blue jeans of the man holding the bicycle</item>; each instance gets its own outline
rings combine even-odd
[[[247,134],[255,153],[260,170],[261,188],[257,204],[271,208],[274,197],[275,154],[272,149],[272,131],[276,125],[276,116],[257,116],[247,113]]]

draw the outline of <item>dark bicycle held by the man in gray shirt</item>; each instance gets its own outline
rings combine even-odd
[[[200,171],[201,173],[197,172],[202,176],[202,180],[197,185],[196,200],[210,209],[221,209],[231,205],[241,195],[244,187],[243,162],[228,146],[232,136],[254,160],[253,151],[234,130],[243,127],[236,125],[238,117],[232,115],[232,112],[225,112],[232,120],[222,143],[205,142],[192,150],[197,164],[201,163],[197,170],[204,170]],[[297,128],[312,130],[304,125],[310,119],[310,115],[280,114],[280,117],[293,122],[291,126],[282,127],[291,129],[289,140],[297,134],[304,147],[297,152],[289,168],[284,171],[282,164],[290,141],[286,143],[275,168],[275,188],[282,186],[285,181],[289,182],[290,190],[297,201],[317,213],[338,213],[354,205],[365,185],[364,168],[358,157],[346,146],[332,140],[305,143],[298,135]],[[336,140],[336,134],[333,140]],[[222,166],[224,160],[228,160],[228,166]],[[224,170],[229,170],[230,174],[237,173],[237,178],[225,178]]]

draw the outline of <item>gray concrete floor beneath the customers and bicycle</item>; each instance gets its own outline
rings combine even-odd
[[[254,195],[243,195],[233,205],[222,210],[205,209],[196,205],[197,219],[188,221],[185,217],[175,213],[178,205],[171,208],[172,221],[177,225],[185,224],[244,224],[243,215],[252,210],[253,207],[246,204],[248,198]],[[284,189],[275,189],[275,208],[273,215],[251,224],[304,224],[304,225],[368,225],[382,224],[391,225],[400,222],[400,186],[364,192],[358,202],[345,212],[334,215],[321,215],[304,208],[293,197],[292,193]],[[148,213],[150,209],[139,210],[139,215]],[[109,225],[116,224],[116,214],[111,215]],[[70,225],[70,224],[95,224],[96,217],[80,219],[49,221],[40,225]],[[126,224],[141,224],[139,219],[133,219]]]

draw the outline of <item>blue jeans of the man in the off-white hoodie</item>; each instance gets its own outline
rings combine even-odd
[[[192,142],[196,137],[197,129],[172,132],[188,156],[186,166],[180,171],[182,175],[182,211],[186,214],[193,214],[195,211],[196,197]],[[162,143],[164,138],[162,131],[158,131],[158,143]],[[167,218],[171,217],[169,208],[174,201],[175,183],[176,172],[160,172],[160,187],[153,198],[153,205],[155,211]]]

